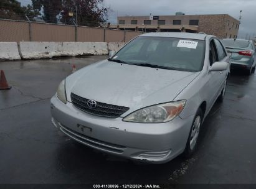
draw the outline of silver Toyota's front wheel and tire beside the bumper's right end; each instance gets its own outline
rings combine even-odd
[[[191,157],[197,148],[197,143],[198,143],[197,139],[198,139],[200,127],[202,124],[202,118],[203,118],[202,109],[199,108],[193,120],[191,129],[189,132],[189,137],[187,139],[186,148],[183,153],[184,157],[186,158]]]

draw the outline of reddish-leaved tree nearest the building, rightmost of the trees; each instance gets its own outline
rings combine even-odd
[[[62,6],[60,21],[64,24],[76,22],[77,14],[78,25],[97,27],[107,21],[111,11],[109,7],[105,7],[104,0],[63,0]]]

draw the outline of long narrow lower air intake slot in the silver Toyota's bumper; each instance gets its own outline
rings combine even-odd
[[[94,139],[92,137],[82,135],[76,131],[73,131],[73,130],[65,127],[64,125],[62,125],[60,123],[59,123],[59,126],[60,126],[60,131],[64,132],[64,134],[66,134],[70,138],[72,138],[75,141],[80,142],[82,144],[93,147],[95,149],[104,150],[104,151],[112,152],[115,154],[121,154],[121,153],[123,153],[123,150],[126,149],[126,147],[123,145],[111,144],[110,142],[104,142],[104,141],[100,141],[98,139]]]

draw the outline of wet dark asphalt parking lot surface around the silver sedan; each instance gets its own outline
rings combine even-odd
[[[199,149],[163,165],[138,164],[85,147],[51,124],[50,98],[72,65],[107,56],[0,62],[0,183],[255,183],[256,77],[230,75],[224,103],[207,116]],[[102,91],[104,93],[104,91]]]

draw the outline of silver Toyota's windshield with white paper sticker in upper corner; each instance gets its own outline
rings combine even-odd
[[[170,70],[200,71],[204,62],[204,51],[203,40],[137,37],[111,60]]]

